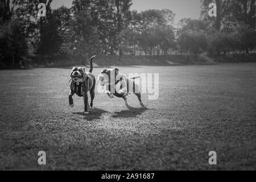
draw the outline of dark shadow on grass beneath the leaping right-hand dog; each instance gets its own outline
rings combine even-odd
[[[131,106],[127,106],[128,110],[121,110],[118,112],[115,112],[113,115],[113,118],[136,118],[138,115],[141,115],[144,113],[144,111],[149,110],[146,106],[141,108],[135,108]]]

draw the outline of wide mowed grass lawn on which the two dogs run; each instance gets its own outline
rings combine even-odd
[[[1,70],[0,169],[256,169],[255,63],[119,69],[159,73],[159,98],[127,108],[96,93],[84,115],[82,98],[68,104],[71,68]]]

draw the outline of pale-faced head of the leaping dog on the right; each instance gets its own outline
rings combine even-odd
[[[115,82],[115,76],[117,76],[119,69],[102,69],[98,80],[100,81],[101,86],[111,84]]]

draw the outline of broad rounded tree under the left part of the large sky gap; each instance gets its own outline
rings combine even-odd
[[[145,55],[148,52],[159,55],[160,51],[166,54],[170,48],[175,48],[174,16],[170,10],[133,12],[131,24]]]

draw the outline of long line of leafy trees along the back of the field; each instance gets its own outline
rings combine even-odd
[[[216,3],[217,17],[208,15]],[[46,4],[39,17],[38,4]],[[200,19],[174,23],[171,10],[131,10],[131,0],[0,0],[0,67],[55,55],[208,55],[249,53],[256,45],[255,0],[202,0]]]

